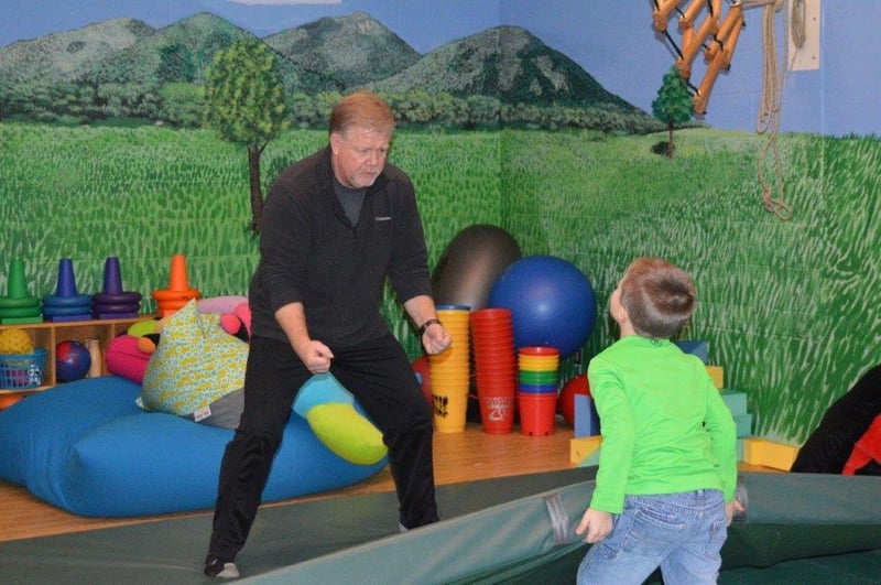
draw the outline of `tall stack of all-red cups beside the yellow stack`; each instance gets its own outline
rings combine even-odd
[[[480,421],[490,434],[510,433],[514,425],[516,358],[510,308],[471,312],[471,346]]]

